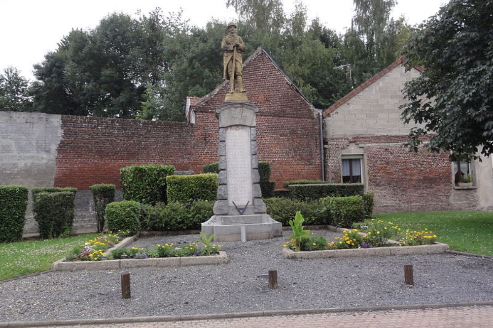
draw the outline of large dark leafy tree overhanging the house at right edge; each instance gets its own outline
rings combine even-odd
[[[411,130],[410,147],[430,134],[425,147],[453,160],[493,153],[492,21],[493,0],[451,0],[414,32],[405,55],[424,71],[404,88],[402,118],[424,128]]]

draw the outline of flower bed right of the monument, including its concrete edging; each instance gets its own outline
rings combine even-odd
[[[423,254],[444,252],[448,248],[446,244],[435,242],[437,236],[432,231],[402,232],[392,222],[376,219],[357,223],[353,225],[354,229],[343,229],[343,235],[334,241],[327,241],[323,236],[309,235],[309,231],[303,229],[303,216],[299,212],[289,224],[293,235],[283,245],[283,254],[287,258]],[[310,252],[314,252],[313,255],[295,255]]]

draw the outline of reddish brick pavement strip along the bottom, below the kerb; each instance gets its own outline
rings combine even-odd
[[[312,311],[315,312],[315,311]],[[243,314],[248,315],[248,314]],[[456,327],[493,327],[493,305],[462,306],[462,307],[438,307],[438,308],[411,308],[399,310],[375,310],[352,312],[350,309],[344,312],[305,313],[289,315],[263,316],[235,316],[227,318],[227,314],[211,319],[134,322],[138,318],[132,318],[119,323],[87,324],[63,326],[9,326],[0,327],[37,327],[37,328],[250,328],[250,327],[351,327],[365,328],[456,328]],[[216,316],[218,317],[218,316]],[[159,318],[155,318],[159,320]],[[170,319],[170,318],[168,318]]]

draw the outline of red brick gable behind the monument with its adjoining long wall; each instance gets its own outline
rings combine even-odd
[[[271,163],[277,188],[291,179],[320,179],[318,121],[311,106],[288,83],[265,53],[245,66],[248,99],[259,107],[259,160]],[[95,183],[119,186],[119,169],[134,164],[172,164],[200,173],[218,160],[215,109],[226,89],[195,108],[193,125],[62,116],[56,186],[87,189]]]

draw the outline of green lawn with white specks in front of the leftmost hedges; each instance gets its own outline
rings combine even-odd
[[[97,234],[0,243],[0,280],[46,271],[73,247],[83,245],[95,236]]]

